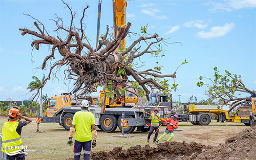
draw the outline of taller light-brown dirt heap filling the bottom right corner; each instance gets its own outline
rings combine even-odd
[[[190,159],[256,159],[256,127],[245,129],[219,146]]]

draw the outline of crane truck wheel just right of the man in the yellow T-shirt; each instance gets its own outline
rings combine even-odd
[[[114,132],[117,128],[117,118],[113,115],[103,115],[100,119],[100,126],[105,132]]]

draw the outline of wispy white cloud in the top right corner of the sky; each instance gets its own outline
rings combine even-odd
[[[239,10],[243,8],[255,8],[256,1],[255,0],[226,0],[224,3],[215,3],[209,2],[206,5],[212,5],[213,7],[209,9],[211,12],[218,11],[232,11]]]

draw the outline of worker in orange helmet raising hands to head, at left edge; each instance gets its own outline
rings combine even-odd
[[[1,150],[7,154],[7,159],[25,159],[24,147],[22,145],[22,127],[26,126],[32,120],[20,114],[19,110],[12,108],[8,113],[9,121],[3,125],[3,139]],[[19,121],[24,119],[26,121]]]

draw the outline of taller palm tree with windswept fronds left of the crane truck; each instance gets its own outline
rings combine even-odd
[[[30,89],[30,92],[34,91],[35,89],[39,88],[42,82],[45,80],[45,74],[42,76],[42,80],[40,81],[36,76],[33,76],[32,79],[34,81],[29,83],[29,86],[27,89]],[[40,93],[40,117],[42,117],[42,88]]]

